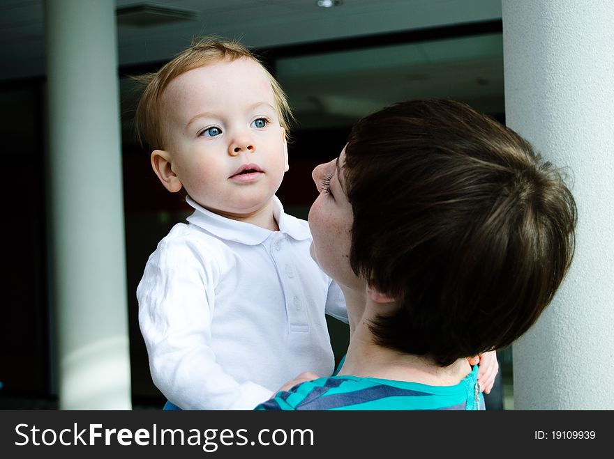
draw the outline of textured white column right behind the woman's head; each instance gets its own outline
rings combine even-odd
[[[614,1],[503,0],[507,125],[568,166],[576,254],[514,345],[514,409],[614,409]]]

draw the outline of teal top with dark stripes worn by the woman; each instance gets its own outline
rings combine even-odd
[[[484,410],[478,366],[454,386],[331,376],[279,392],[255,410]]]

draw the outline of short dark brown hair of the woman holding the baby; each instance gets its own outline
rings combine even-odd
[[[403,102],[354,126],[345,149],[350,263],[397,299],[380,345],[446,366],[510,345],[574,254],[576,204],[530,143],[465,104]]]

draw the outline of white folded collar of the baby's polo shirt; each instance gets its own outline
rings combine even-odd
[[[276,231],[260,228],[260,226],[254,224],[217,215],[196,203],[190,196],[186,196],[186,202],[195,209],[194,213],[188,217],[188,221],[217,238],[241,242],[241,244],[257,245],[262,244],[271,233],[276,233]],[[273,196],[273,215],[280,233],[287,234],[295,240],[310,238],[309,230],[304,221],[283,212],[283,205],[281,205],[277,196]]]

